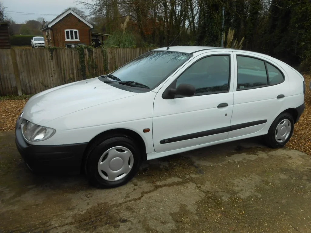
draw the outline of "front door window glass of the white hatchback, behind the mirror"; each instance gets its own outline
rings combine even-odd
[[[196,95],[229,90],[230,57],[217,55],[202,58],[191,65],[177,79],[180,84],[191,84],[196,89]]]

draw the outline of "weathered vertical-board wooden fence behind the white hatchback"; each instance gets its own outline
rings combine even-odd
[[[0,96],[36,94],[108,74],[151,49],[0,49]]]

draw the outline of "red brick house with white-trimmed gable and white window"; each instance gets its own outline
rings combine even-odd
[[[68,9],[42,27],[45,45],[72,48],[77,44],[91,45],[93,25]]]

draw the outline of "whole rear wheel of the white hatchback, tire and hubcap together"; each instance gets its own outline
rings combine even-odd
[[[281,148],[290,140],[293,131],[293,116],[283,112],[272,122],[268,134],[264,136],[264,142],[271,148]]]

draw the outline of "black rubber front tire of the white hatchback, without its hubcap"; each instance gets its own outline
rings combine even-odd
[[[100,157],[108,149],[116,146],[122,146],[128,148],[131,151],[134,158],[132,169],[125,177],[120,180],[105,180],[100,176],[97,165]],[[101,142],[97,141],[97,143],[94,143],[91,146],[86,156],[86,175],[91,185],[97,188],[114,188],[128,183],[128,181],[130,181],[135,176],[142,162],[141,151],[135,144],[134,140],[125,136],[115,136],[112,138],[103,139]]]

